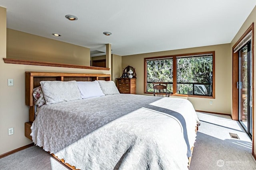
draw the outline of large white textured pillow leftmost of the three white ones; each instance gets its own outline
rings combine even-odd
[[[40,81],[46,104],[79,100],[81,98],[76,81]]]

